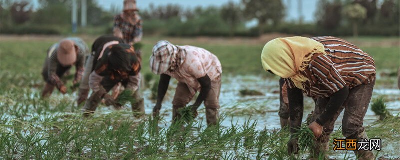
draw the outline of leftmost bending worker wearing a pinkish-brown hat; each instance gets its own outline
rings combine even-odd
[[[65,94],[66,87],[60,78],[72,65],[76,66],[73,84],[77,84],[82,77],[85,56],[88,53],[89,49],[86,43],[77,37],[65,38],[51,45],[47,50],[47,56],[41,72],[44,81],[46,81],[41,96],[50,96],[54,87],[57,87],[62,94]]]

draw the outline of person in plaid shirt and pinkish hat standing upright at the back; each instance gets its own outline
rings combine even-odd
[[[129,45],[139,42],[143,36],[142,21],[137,11],[136,0],[124,0],[123,12],[114,17],[114,36]]]

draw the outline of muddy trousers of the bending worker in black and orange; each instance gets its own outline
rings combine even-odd
[[[118,82],[112,81],[108,79],[108,77],[104,77],[104,79],[101,81],[101,85],[104,87],[105,92],[97,91],[90,95],[83,107],[84,115],[88,116],[94,113],[103,96],[117,84]],[[122,85],[124,87],[126,87],[126,84],[126,81],[122,81]],[[144,114],[144,99],[141,97],[139,90],[137,89],[132,96],[136,100],[135,103],[131,104],[132,111],[135,113],[135,115],[137,113],[138,116]]]

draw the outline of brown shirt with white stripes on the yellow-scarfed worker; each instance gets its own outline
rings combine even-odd
[[[322,43],[327,55],[314,54],[309,66],[300,72],[309,79],[302,83],[308,96],[329,97],[344,86],[351,89],[375,79],[373,58],[357,46],[331,36],[311,39]],[[289,88],[295,87],[290,79],[285,79],[285,83]]]

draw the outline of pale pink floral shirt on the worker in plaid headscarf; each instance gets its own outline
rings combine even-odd
[[[187,52],[184,62],[176,70],[165,74],[186,83],[192,94],[201,89],[198,78],[207,74],[211,81],[221,79],[222,66],[218,57],[203,48],[189,45],[179,47]]]

